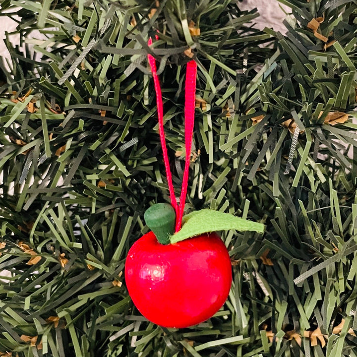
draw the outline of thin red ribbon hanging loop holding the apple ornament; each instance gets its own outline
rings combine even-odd
[[[151,38],[148,41],[148,45],[149,46],[152,45]],[[156,61],[154,57],[151,55],[148,55],[148,61],[154,78],[154,87],[156,92],[156,103],[157,103],[157,112],[158,112],[158,121],[159,121],[159,135],[160,135],[161,147],[163,149],[163,157],[164,157],[164,164],[166,170],[166,177],[169,185],[170,200],[176,212],[175,232],[178,232],[182,224],[182,217],[183,217],[184,205],[185,205],[186,194],[187,194],[187,186],[188,186],[189,163],[191,159],[192,136],[193,136],[193,127],[194,127],[197,63],[194,60],[191,60],[187,63],[187,68],[186,68],[185,112],[184,112],[186,158],[185,158],[185,167],[183,171],[183,179],[181,185],[181,194],[180,194],[179,205],[178,205],[176,201],[175,190],[172,181],[172,174],[170,170],[170,161],[169,161],[168,151],[166,147],[166,139],[165,139],[165,131],[164,131],[164,108],[163,108],[160,81],[157,75]]]

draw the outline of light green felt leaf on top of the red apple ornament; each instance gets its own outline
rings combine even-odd
[[[183,218],[182,228],[170,237],[170,241],[177,243],[204,233],[229,230],[263,233],[264,225],[235,217],[229,213],[204,209],[186,215]]]

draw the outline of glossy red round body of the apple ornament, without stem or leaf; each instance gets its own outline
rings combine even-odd
[[[149,232],[128,252],[125,282],[148,320],[164,327],[188,327],[212,317],[226,301],[231,260],[215,233],[163,245]]]

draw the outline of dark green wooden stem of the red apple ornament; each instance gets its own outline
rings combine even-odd
[[[171,204],[154,204],[146,210],[144,219],[161,244],[170,243],[170,236],[174,234],[176,221],[176,213]]]

